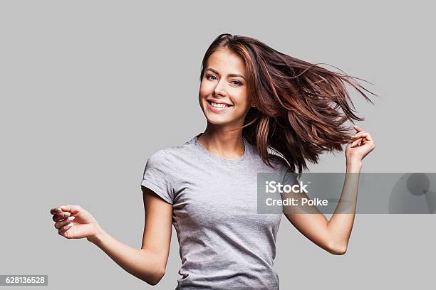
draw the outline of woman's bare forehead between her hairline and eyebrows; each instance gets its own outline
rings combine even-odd
[[[230,50],[217,50],[207,59],[207,68],[214,68],[220,73],[239,73],[244,75],[245,64],[239,55],[232,53]]]

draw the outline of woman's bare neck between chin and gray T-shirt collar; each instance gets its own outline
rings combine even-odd
[[[242,129],[230,131],[227,127],[207,123],[198,141],[211,154],[224,159],[239,159],[244,155]]]

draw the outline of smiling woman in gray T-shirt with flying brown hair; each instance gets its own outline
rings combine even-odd
[[[343,127],[363,120],[353,114],[344,84],[369,99],[353,77],[227,33],[205,53],[200,81],[205,131],[147,160],[141,249],[115,240],[79,205],[53,208],[55,227],[68,239],[86,237],[155,285],[165,274],[174,225],[182,259],[177,289],[279,289],[273,260],[281,215],[257,213],[256,174],[279,173],[293,183],[289,173],[301,174],[306,160],[316,163],[323,151],[341,151],[341,144],[347,144],[346,172],[359,173],[375,144],[362,128],[350,136]],[[357,186],[358,174],[347,176],[339,204],[355,202]],[[355,206],[330,220],[316,207],[309,210],[314,214],[285,215],[316,245],[344,254]]]

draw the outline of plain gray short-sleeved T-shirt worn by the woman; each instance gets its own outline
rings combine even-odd
[[[152,154],[141,183],[172,204],[182,259],[176,290],[279,289],[273,261],[281,215],[257,213],[256,177],[280,173],[293,183],[294,175],[284,163],[267,166],[246,139],[241,158],[222,159],[197,136]]]

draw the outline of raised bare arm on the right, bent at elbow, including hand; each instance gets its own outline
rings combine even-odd
[[[314,205],[305,205],[300,208],[291,208],[291,205],[284,206],[286,218],[296,229],[331,254],[346,253],[348,240],[353,229],[362,159],[375,148],[373,139],[368,132],[363,131],[360,127],[355,129],[358,131],[358,134],[355,134],[355,141],[348,144],[346,148],[346,178],[341,198],[331,219],[327,220]],[[358,141],[361,141],[360,145],[358,145]],[[303,197],[307,198],[307,195],[304,193],[286,193],[284,195],[284,198],[296,198],[296,200],[301,200]],[[301,210],[304,213],[299,212]]]

